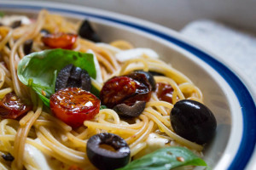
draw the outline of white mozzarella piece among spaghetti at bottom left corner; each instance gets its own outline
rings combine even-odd
[[[36,142],[42,144],[40,139],[35,139]],[[32,144],[25,144],[24,161],[36,169],[50,170],[47,157]]]

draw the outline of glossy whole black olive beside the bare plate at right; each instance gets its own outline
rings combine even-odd
[[[172,128],[181,137],[197,144],[205,144],[214,136],[217,122],[206,105],[183,99],[171,111]]]

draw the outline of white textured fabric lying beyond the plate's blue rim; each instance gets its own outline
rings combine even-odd
[[[181,31],[184,37],[199,44],[243,72],[256,85],[256,36],[224,26],[212,20],[196,20]],[[249,82],[251,83],[251,82]]]

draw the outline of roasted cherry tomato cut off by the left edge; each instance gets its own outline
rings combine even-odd
[[[0,116],[2,118],[15,119],[32,109],[32,105],[26,105],[16,94],[6,94],[0,101]]]

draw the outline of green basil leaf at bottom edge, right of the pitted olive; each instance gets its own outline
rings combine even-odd
[[[186,148],[166,147],[131,161],[118,170],[169,170],[187,165],[207,166],[207,163]]]

